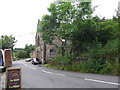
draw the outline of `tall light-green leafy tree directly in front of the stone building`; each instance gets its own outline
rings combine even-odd
[[[83,29],[82,25],[83,23],[86,23],[84,24],[84,26],[87,25],[87,23],[89,24],[90,20],[87,21],[86,19],[90,19],[93,12],[93,9],[91,8],[91,3],[52,3],[48,8],[48,11],[50,12],[50,15],[43,16],[39,31],[42,32],[43,40],[47,43],[52,43],[54,36],[57,36],[62,43],[61,49],[63,53],[62,55],[64,55],[66,41],[71,40],[71,42],[73,42],[74,44],[74,41],[79,42],[76,37],[79,38],[80,33],[82,33],[81,31],[87,31],[87,29],[89,28],[88,27],[86,29]],[[73,34],[75,35],[75,38]],[[89,37],[87,37],[86,35],[86,38]],[[64,39],[64,42],[62,41],[62,39]]]

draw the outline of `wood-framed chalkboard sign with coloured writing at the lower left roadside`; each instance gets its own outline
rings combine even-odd
[[[7,89],[21,89],[21,68],[7,69],[6,88]]]

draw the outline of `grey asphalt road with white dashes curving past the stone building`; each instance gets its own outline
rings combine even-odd
[[[25,60],[13,62],[22,68],[22,88],[118,88],[118,77],[60,71]]]

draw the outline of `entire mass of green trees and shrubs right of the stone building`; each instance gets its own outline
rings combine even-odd
[[[50,5],[50,15],[43,16],[38,31],[42,33],[45,43],[52,43],[54,36],[65,40],[61,40],[59,50],[62,56],[53,58],[51,66],[63,70],[117,75],[119,18],[93,17],[94,10],[91,2],[59,2]],[[66,41],[71,44],[67,45]],[[67,52],[67,46],[70,46],[70,52]],[[76,57],[82,56],[88,59],[77,63]]]

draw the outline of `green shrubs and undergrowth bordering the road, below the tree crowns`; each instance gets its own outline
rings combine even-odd
[[[119,74],[120,64],[118,62],[117,40],[109,41],[104,47],[101,44],[92,45],[85,54],[82,54],[82,56],[84,55],[87,55],[88,60],[80,60],[79,63],[76,63],[75,58],[71,59],[69,55],[65,55],[52,59],[51,65],[62,70],[112,75]]]

